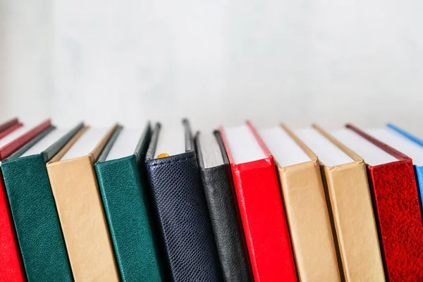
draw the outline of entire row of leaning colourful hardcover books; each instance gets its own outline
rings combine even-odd
[[[0,161],[0,281],[423,281],[423,141],[395,125],[13,119]]]

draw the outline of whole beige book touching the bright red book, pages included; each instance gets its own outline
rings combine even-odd
[[[275,159],[298,280],[341,281],[316,154],[286,125],[259,134]]]

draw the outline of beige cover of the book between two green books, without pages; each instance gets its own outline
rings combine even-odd
[[[61,161],[82,128],[48,163],[61,229],[75,281],[119,281],[113,246],[97,185],[94,162],[116,130],[114,125],[90,154]]]

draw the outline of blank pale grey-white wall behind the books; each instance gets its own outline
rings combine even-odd
[[[423,134],[423,1],[0,0],[0,118]]]

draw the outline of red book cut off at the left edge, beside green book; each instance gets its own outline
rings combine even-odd
[[[17,124],[19,126],[17,126]],[[0,125],[1,126],[1,125]],[[0,161],[9,157],[17,149],[42,133],[51,126],[50,121],[44,121],[35,128],[26,130],[22,124],[14,123],[13,132],[2,136],[0,133]],[[20,257],[18,239],[16,238],[13,219],[8,205],[3,175],[0,172],[0,281],[26,281],[25,269]]]

